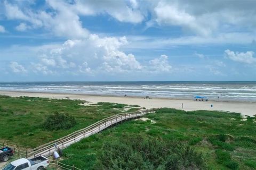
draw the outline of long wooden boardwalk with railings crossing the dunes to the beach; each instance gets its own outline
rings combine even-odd
[[[60,139],[51,141],[49,143],[45,143],[42,146],[36,147],[31,150],[26,151],[26,157],[36,157],[36,156],[50,156],[55,151],[55,147],[64,149],[70,146],[71,144],[83,139],[87,138],[92,134],[98,133],[102,130],[105,130],[111,125],[114,125],[118,122],[122,122],[125,120],[129,120],[131,118],[136,118],[143,116],[148,113],[155,113],[156,109],[149,109],[149,110],[143,110],[138,112],[131,112],[131,113],[121,113],[117,115],[113,115],[107,118],[104,118],[103,120],[100,120],[90,126],[87,126],[84,129],[75,131],[66,137],[62,137]]]

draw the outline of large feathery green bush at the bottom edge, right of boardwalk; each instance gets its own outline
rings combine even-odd
[[[205,169],[194,149],[141,135],[106,141],[97,155],[94,169]]]

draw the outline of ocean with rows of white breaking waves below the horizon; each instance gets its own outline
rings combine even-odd
[[[0,82],[2,91],[256,102],[256,81]],[[218,99],[219,96],[219,99]]]

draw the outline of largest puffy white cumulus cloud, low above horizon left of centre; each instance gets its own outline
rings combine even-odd
[[[125,54],[119,48],[127,44],[125,37],[89,35],[88,38],[67,40],[59,47],[39,50],[37,72],[48,74],[61,70],[77,73],[140,71],[141,64],[133,54]],[[34,64],[34,65],[36,65]]]

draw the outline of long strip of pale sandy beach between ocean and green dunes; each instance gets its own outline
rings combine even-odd
[[[21,92],[21,91],[0,91],[0,95],[11,97],[29,96],[29,97],[47,97],[47,98],[69,98],[86,100],[90,103],[110,102],[129,105],[139,105],[146,108],[169,107],[183,109],[185,111],[209,110],[209,111],[226,111],[236,112],[243,115],[253,116],[256,114],[256,103],[250,102],[227,102],[227,101],[194,101],[184,99],[163,99],[153,98],[144,99],[141,97],[119,97],[119,96],[95,96],[80,94],[52,94],[43,92]],[[183,104],[183,108],[182,108]],[[213,107],[211,107],[213,105]]]

